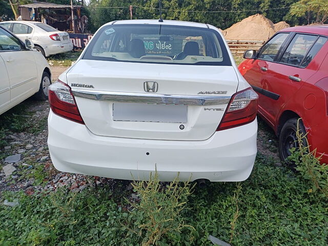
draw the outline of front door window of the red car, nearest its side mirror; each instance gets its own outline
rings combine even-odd
[[[263,46],[258,58],[268,61],[273,61],[277,55],[284,40],[288,37],[289,33],[278,33]]]

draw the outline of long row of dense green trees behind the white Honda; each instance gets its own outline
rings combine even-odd
[[[162,0],[163,19],[208,23],[226,29],[240,20],[260,13],[273,23],[288,20],[292,25],[306,23],[304,18],[290,16],[289,7],[298,0]],[[328,0],[312,0],[328,1]],[[133,19],[158,19],[158,0],[90,0],[91,30],[112,20],[130,19],[129,6],[133,6]],[[113,8],[122,7],[122,8]],[[188,12],[195,11],[195,12]],[[212,12],[207,12],[212,11]],[[214,12],[213,12],[214,11]],[[215,12],[219,11],[219,12]]]

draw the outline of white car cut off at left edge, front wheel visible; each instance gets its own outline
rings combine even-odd
[[[0,26],[0,114],[28,97],[48,99],[51,73],[46,58]]]

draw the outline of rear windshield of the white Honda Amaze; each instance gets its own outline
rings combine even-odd
[[[84,59],[231,66],[212,29],[169,25],[110,25],[97,32]]]

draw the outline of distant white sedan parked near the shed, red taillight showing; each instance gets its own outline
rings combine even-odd
[[[23,42],[25,42],[25,39],[32,40],[34,49],[46,57],[72,51],[73,49],[73,44],[67,32],[58,31],[41,22],[13,20],[0,22],[0,26],[7,28]]]

